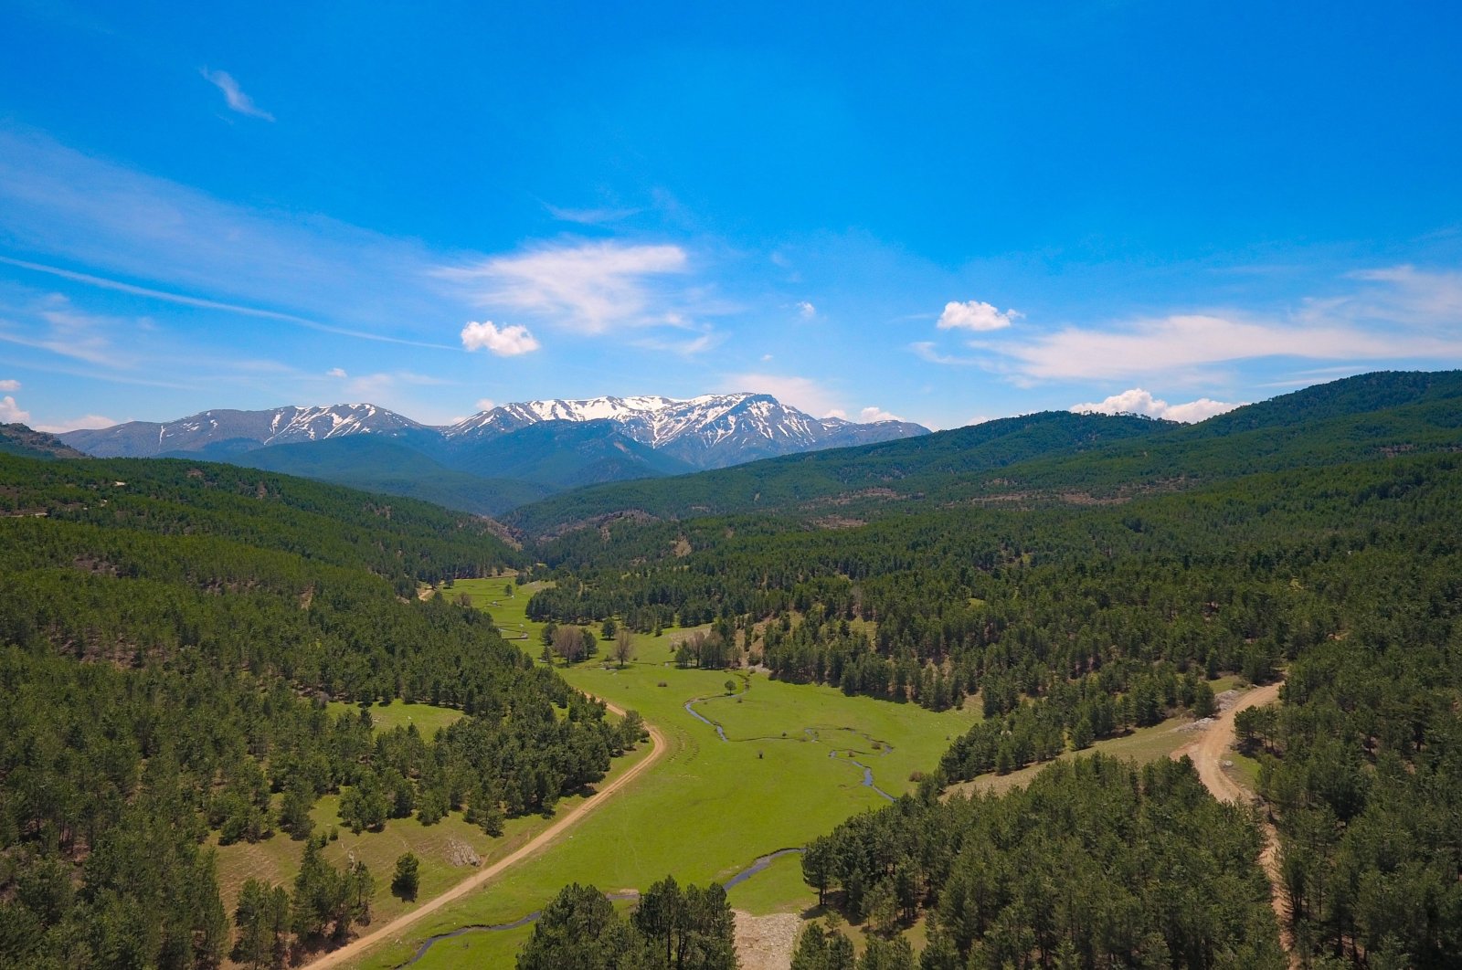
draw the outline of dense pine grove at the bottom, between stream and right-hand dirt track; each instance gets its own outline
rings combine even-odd
[[[1247,814],[1215,802],[1187,761],[1137,771],[1094,755],[1004,796],[905,796],[808,852],[827,858],[849,919],[880,929],[870,910],[890,907],[892,932],[933,916],[934,966],[950,952],[952,966],[1051,966],[1066,948],[1083,967],[1278,969],[1259,847]],[[806,966],[833,966],[803,945]],[[870,951],[867,966],[911,966],[896,938]]]

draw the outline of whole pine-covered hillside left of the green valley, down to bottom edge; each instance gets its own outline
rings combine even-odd
[[[0,456],[0,967],[278,963],[370,919],[386,874],[320,855],[311,808],[379,830],[551,814],[639,741],[417,584],[501,565],[480,519],[190,462]],[[326,701],[424,701],[424,738]],[[307,841],[237,932],[212,841]]]

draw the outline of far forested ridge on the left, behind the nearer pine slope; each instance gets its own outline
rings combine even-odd
[[[45,516],[156,535],[212,535],[368,570],[402,596],[520,554],[497,523],[423,501],[171,459],[41,462],[0,454],[0,517]]]

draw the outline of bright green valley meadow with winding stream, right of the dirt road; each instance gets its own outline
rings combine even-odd
[[[523,630],[526,649],[538,653],[538,628],[523,616],[531,587],[504,597],[503,580],[458,581],[452,593],[463,592],[504,630]],[[569,882],[608,893],[645,888],[665,875],[681,882],[724,881],[759,856],[801,846],[855,812],[886,805],[864,784],[861,765],[890,795],[912,790],[911,774],[933,768],[947,739],[978,719],[974,706],[933,713],[744,671],[677,669],[668,662],[677,634],[683,631],[637,635],[636,660],[624,669],[602,656],[560,668],[575,687],[639,710],[656,725],[668,741],[665,757],[564,839],[433,913],[402,941],[368,954],[363,966],[395,967],[434,933],[512,922]],[[728,679],[735,685],[732,695]],[[727,741],[686,711],[684,704],[697,698],[705,700],[696,711],[721,725]],[[795,856],[740,884],[731,898],[753,913],[801,912],[814,901]],[[414,966],[510,966],[529,932],[444,939]]]

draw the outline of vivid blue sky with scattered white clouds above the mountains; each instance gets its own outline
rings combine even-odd
[[[0,7],[0,421],[1462,367],[1453,3],[537,6]]]

